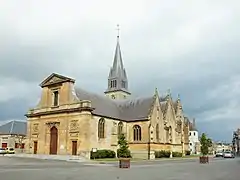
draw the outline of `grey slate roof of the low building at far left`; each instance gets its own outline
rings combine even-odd
[[[0,126],[0,134],[27,134],[27,122],[24,121],[10,121]]]

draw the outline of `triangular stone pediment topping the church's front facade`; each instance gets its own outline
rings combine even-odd
[[[46,86],[51,86],[59,83],[64,83],[64,82],[75,82],[74,79],[62,76],[56,73],[52,73],[50,76],[48,76],[41,84],[41,87],[46,87]]]

